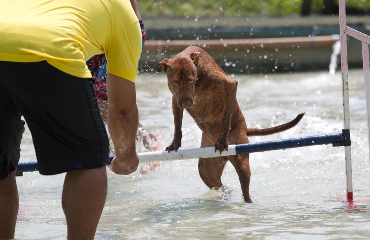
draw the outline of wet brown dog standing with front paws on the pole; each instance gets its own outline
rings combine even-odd
[[[166,150],[178,150],[182,138],[182,114],[184,109],[202,130],[201,147],[215,146],[215,151],[227,150],[229,144],[249,143],[248,136],[277,133],[295,126],[304,113],[294,120],[266,129],[247,129],[244,116],[236,100],[238,82],[229,78],[203,49],[190,46],[172,59],[158,63],[157,71],[165,71],[168,88],[172,93],[172,111],[175,120],[175,136]],[[230,161],[239,176],[244,200],[249,197],[249,154],[199,159],[198,169],[203,182],[210,189],[223,186],[221,175]]]

